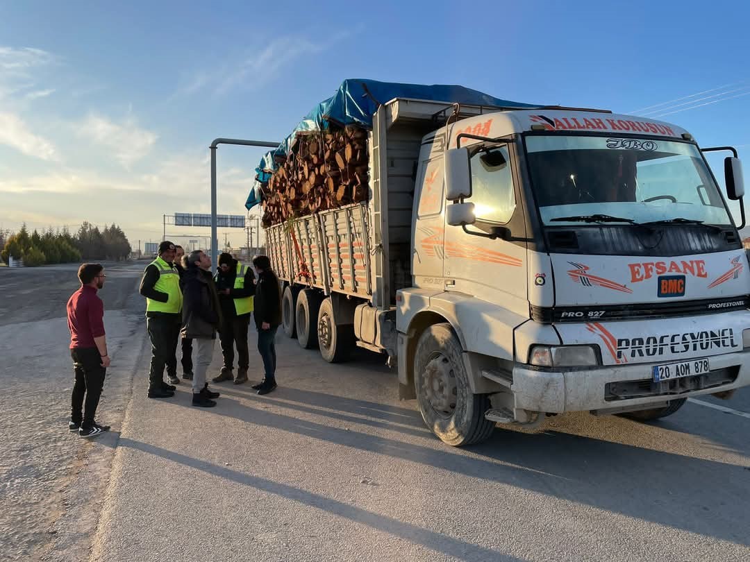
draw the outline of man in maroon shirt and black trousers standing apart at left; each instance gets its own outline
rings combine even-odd
[[[71,421],[68,428],[81,437],[96,437],[110,426],[94,421],[104,375],[110,366],[107,336],[104,335],[104,303],[97,296],[104,287],[104,268],[99,264],[83,264],[78,269],[81,288],[68,300],[68,327],[71,330],[71,357],[76,373],[71,398]],[[83,399],[86,396],[86,410]]]

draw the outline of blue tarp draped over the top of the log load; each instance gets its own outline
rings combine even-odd
[[[373,115],[382,103],[396,97],[408,97],[415,100],[434,100],[449,103],[463,103],[475,106],[517,107],[519,109],[538,107],[538,104],[519,103],[501,100],[498,97],[484,94],[481,91],[464,88],[458,85],[421,85],[398,84],[396,82],[376,82],[368,79],[347,79],[341,83],[336,94],[319,103],[305,115],[297,127],[284,141],[260,160],[256,181],[253,184],[245,207],[258,205],[262,200],[260,184],[269,181],[277,169],[274,155],[290,154],[296,133],[299,131],[326,130],[329,124],[359,125],[365,129],[373,126]]]

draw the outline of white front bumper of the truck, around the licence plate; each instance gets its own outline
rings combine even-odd
[[[732,374],[733,381],[702,390],[673,390],[670,393],[660,393],[655,388],[649,396],[613,398],[612,393],[607,392],[607,388],[628,386],[618,384],[628,381],[649,381],[652,378],[652,366],[656,363],[575,370],[534,369],[521,365],[513,369],[511,390],[514,394],[515,408],[559,414],[569,411],[638,407],[750,385],[750,349],[714,355],[710,359],[711,372],[725,369],[724,372]],[[613,387],[607,387],[612,383],[615,384]],[[649,394],[649,390],[643,390],[642,394]]]

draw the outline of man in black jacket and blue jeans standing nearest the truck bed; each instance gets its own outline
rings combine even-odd
[[[254,384],[258,394],[268,394],[276,388],[276,330],[281,324],[281,291],[279,280],[271,269],[268,256],[256,256],[253,265],[258,272],[255,287],[255,325],[258,329],[258,351],[263,358],[266,376]]]

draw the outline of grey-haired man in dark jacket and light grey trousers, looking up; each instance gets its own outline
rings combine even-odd
[[[201,250],[184,259],[184,292],[182,300],[183,339],[196,340],[197,354],[193,372],[193,406],[211,408],[219,393],[208,390],[205,373],[214,355],[216,331],[221,325],[219,295],[211,278],[211,258]]]

